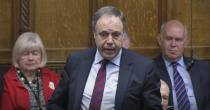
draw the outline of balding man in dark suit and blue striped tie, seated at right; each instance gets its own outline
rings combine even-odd
[[[156,72],[169,88],[169,106],[174,110],[210,108],[210,68],[208,62],[184,56],[187,28],[178,20],[161,26],[158,43],[161,55],[156,57]]]

